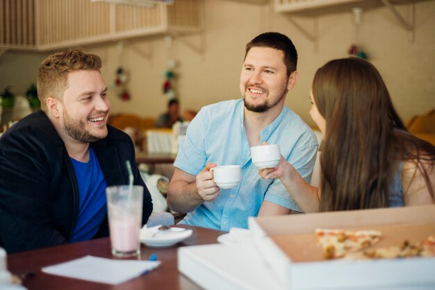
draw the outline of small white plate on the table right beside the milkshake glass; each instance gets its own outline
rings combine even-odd
[[[154,229],[155,228],[155,229]],[[186,228],[170,228],[170,230],[158,230],[157,227],[141,230],[140,241],[149,247],[170,247],[187,239],[192,235],[192,230]]]

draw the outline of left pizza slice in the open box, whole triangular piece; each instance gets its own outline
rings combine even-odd
[[[381,232],[377,230],[315,230],[317,244],[326,259],[344,257],[348,253],[366,249],[377,243],[380,237]]]

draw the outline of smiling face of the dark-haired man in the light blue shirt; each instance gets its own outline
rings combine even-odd
[[[270,47],[250,49],[240,74],[240,93],[245,108],[252,112],[266,112],[274,106],[282,108],[284,99],[297,78],[294,71],[287,76],[284,53]]]

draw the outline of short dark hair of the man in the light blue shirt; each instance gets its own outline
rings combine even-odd
[[[246,44],[245,58],[252,47],[270,47],[284,53],[284,65],[287,67],[287,76],[290,76],[297,67],[297,51],[293,42],[286,35],[277,32],[261,33]]]

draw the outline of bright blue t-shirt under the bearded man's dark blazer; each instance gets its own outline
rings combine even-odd
[[[107,213],[106,180],[92,147],[89,161],[79,162],[71,158],[79,184],[79,216],[69,242],[88,241],[98,232]]]

